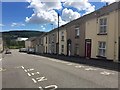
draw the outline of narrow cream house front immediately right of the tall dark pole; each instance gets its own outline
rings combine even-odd
[[[67,55],[67,32],[65,26],[61,26],[59,30],[59,54]]]

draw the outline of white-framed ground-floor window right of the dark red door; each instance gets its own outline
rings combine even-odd
[[[106,55],[106,42],[98,42],[98,56],[105,57]]]

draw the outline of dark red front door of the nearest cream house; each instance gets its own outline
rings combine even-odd
[[[87,39],[86,40],[86,45],[85,45],[85,56],[87,58],[91,58],[91,40]]]

